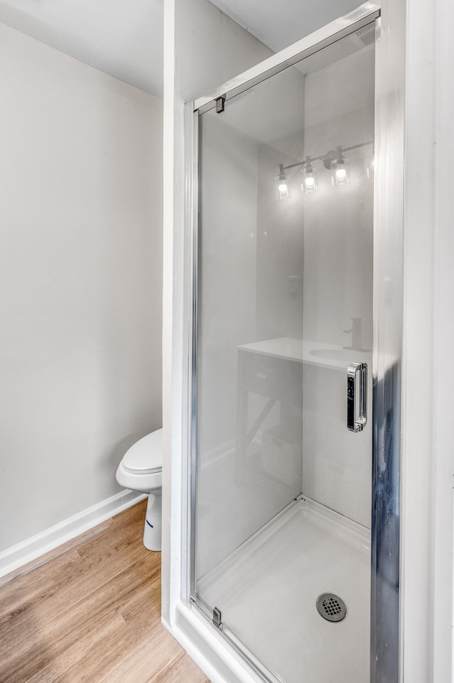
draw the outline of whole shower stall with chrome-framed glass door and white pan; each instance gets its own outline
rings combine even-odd
[[[398,679],[380,13],[344,24],[193,107],[190,599],[273,683]]]

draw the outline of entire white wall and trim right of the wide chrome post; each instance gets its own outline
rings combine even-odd
[[[402,679],[448,683],[453,680],[454,6],[446,0],[406,6]]]

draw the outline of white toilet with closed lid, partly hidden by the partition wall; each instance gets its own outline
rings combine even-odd
[[[162,429],[151,432],[126,451],[116,471],[120,486],[148,493],[143,545],[161,550],[162,529]]]

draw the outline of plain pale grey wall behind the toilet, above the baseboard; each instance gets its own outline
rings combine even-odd
[[[161,425],[162,103],[0,25],[0,551]]]

